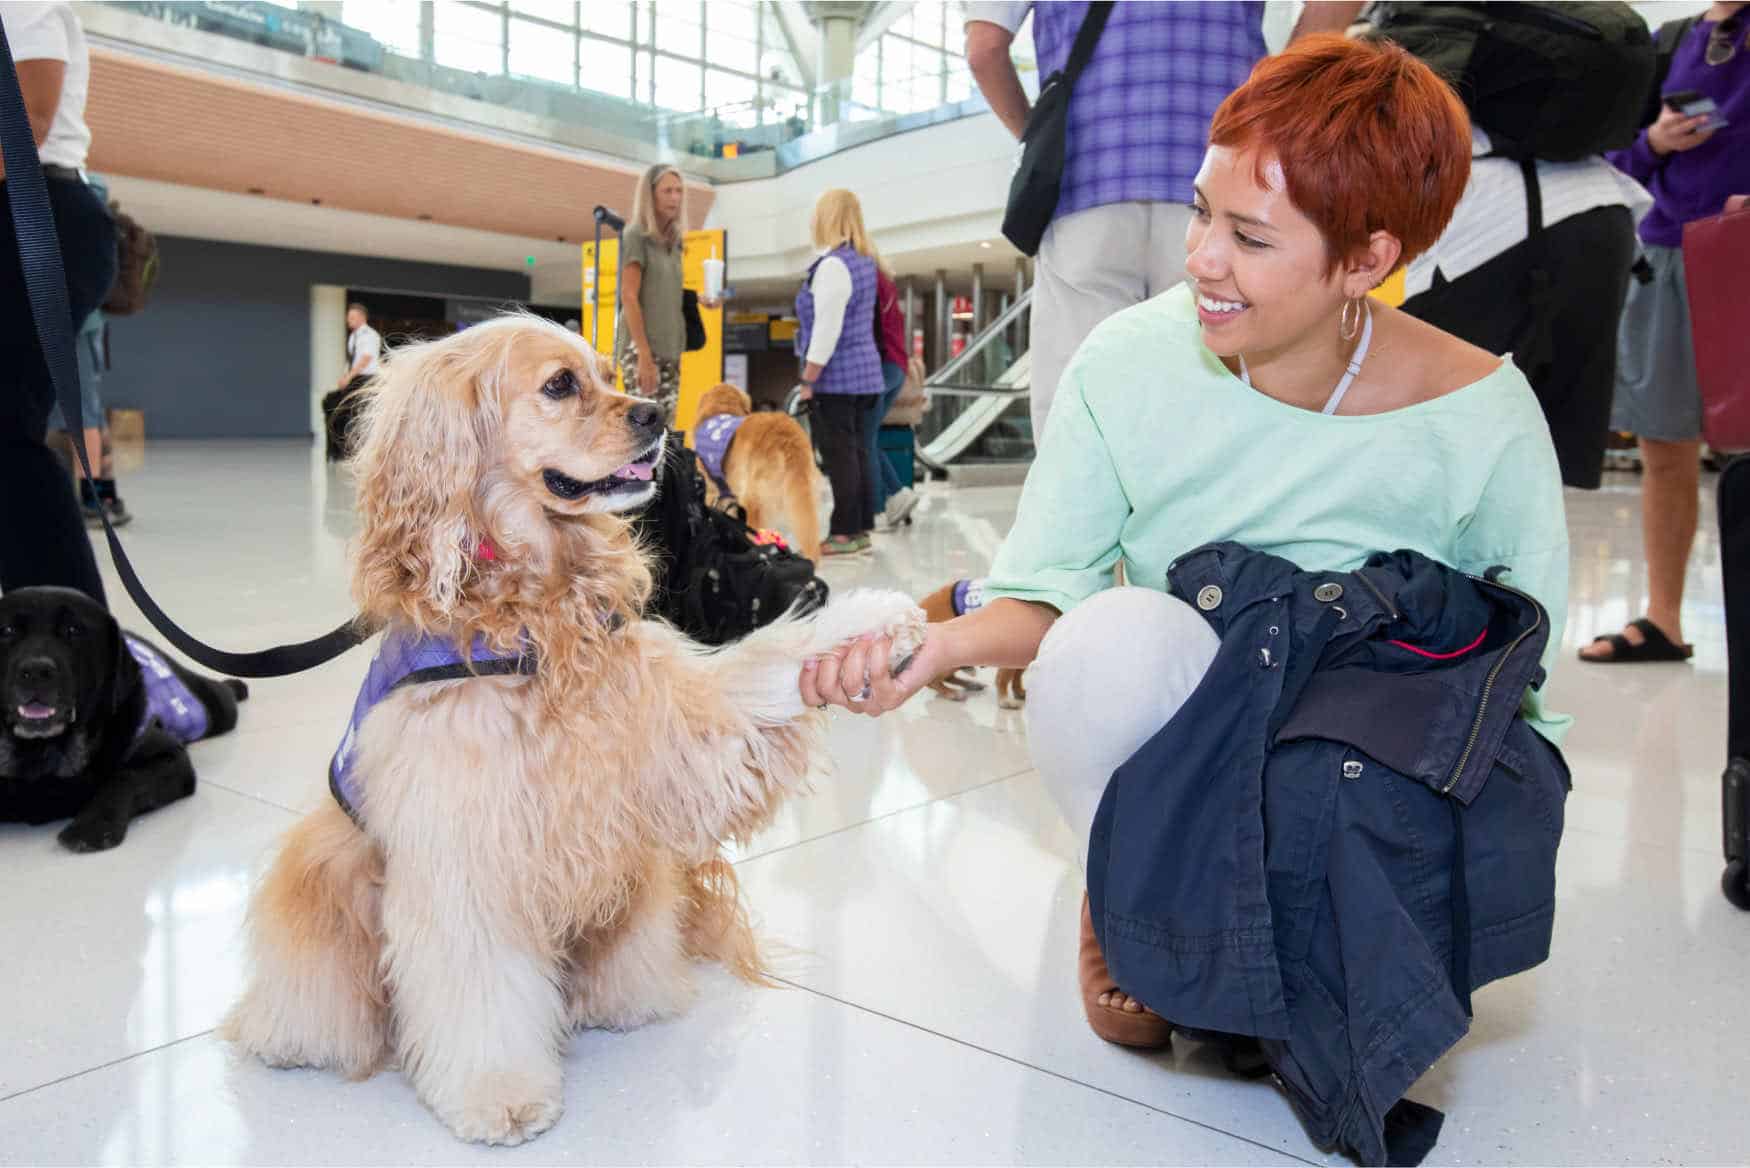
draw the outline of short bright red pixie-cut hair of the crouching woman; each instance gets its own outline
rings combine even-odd
[[[1318,224],[1330,271],[1374,231],[1409,263],[1440,238],[1470,180],[1470,117],[1438,74],[1388,40],[1335,33],[1258,61],[1214,112],[1209,144],[1281,161],[1288,200]]]

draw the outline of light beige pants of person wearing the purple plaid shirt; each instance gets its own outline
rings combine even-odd
[[[1057,378],[1094,326],[1185,278],[1181,203],[1108,203],[1054,219],[1040,242],[1032,291],[1032,441],[1057,398]]]

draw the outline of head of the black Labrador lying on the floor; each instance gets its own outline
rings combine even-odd
[[[0,727],[19,742],[102,723],[116,700],[121,629],[72,588],[0,597]]]

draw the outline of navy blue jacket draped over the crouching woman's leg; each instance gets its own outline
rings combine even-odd
[[[1568,772],[1519,714],[1549,618],[1414,552],[1304,573],[1223,543],[1167,583],[1222,648],[1094,818],[1113,979],[1260,1038],[1321,1147],[1414,1163],[1440,1115],[1400,1096],[1474,988],[1549,956]]]

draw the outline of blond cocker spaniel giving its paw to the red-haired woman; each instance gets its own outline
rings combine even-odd
[[[558,326],[399,348],[368,392],[362,620],[525,646],[536,672],[408,685],[364,718],[357,823],[329,802],[280,846],[222,1033],[273,1066],[399,1065],[457,1136],[522,1143],[560,1115],[572,1028],[682,1010],[698,958],[761,981],[719,844],[821,762],[802,662],[915,646],[922,615],[852,592],[718,651],[639,620],[620,511],[654,490],[662,415]]]

